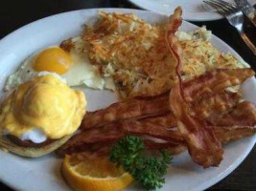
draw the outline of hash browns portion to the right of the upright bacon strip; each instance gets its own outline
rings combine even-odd
[[[209,41],[211,32],[206,31],[205,27],[194,32],[177,32],[176,35],[183,50],[182,75],[185,79],[191,79],[215,69],[249,67],[243,60],[238,60],[234,55],[221,53],[216,49]]]

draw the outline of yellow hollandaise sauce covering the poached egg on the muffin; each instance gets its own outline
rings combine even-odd
[[[79,128],[86,104],[81,91],[70,89],[57,77],[37,76],[3,101],[0,129],[20,137],[36,127],[47,138],[62,138]]]

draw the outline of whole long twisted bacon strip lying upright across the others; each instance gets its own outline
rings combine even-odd
[[[181,9],[178,8],[175,10],[175,14],[170,17],[170,26],[172,27],[176,23],[180,23],[180,19]],[[177,119],[178,129],[186,141],[189,153],[195,162],[204,168],[218,166],[223,153],[221,142],[215,137],[211,129],[207,128],[198,118],[190,115],[190,108],[186,103],[182,80],[179,74],[182,67],[180,59],[181,48],[175,40],[175,31],[172,28],[167,32],[167,44],[169,45],[170,53],[175,55],[177,62],[176,74],[178,84],[171,91],[170,106]]]

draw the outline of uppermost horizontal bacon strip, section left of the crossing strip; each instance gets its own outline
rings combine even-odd
[[[152,96],[149,98],[132,98],[114,103],[103,110],[88,112],[81,122],[81,129],[103,126],[106,123],[163,114],[170,111],[169,96]]]

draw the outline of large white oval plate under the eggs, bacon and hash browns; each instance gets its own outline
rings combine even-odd
[[[0,89],[3,88],[7,75],[14,72],[27,56],[44,47],[55,45],[63,39],[78,35],[84,23],[95,21],[99,10],[82,10],[61,13],[29,24],[0,41]],[[151,22],[162,22],[166,16],[149,11],[115,10],[105,11],[132,12]],[[181,30],[191,31],[197,26],[183,22]],[[222,52],[235,53],[228,45],[216,36],[212,38],[213,44]],[[254,79],[246,83],[245,95],[250,98],[256,93]],[[251,93],[251,94],[250,94]],[[0,93],[3,96],[3,93]],[[107,91],[85,91],[88,99],[88,110],[96,110],[107,106],[117,100],[117,97]],[[224,159],[218,168],[203,170],[195,164],[187,153],[176,156],[172,167],[166,176],[166,183],[162,190],[203,190],[232,172],[248,155],[256,137],[244,138],[232,142],[224,147]],[[33,191],[68,191],[70,188],[62,180],[59,168],[61,159],[52,154],[40,159],[25,159],[10,153],[0,151],[0,180],[17,190]],[[129,187],[128,190],[138,190]]]

